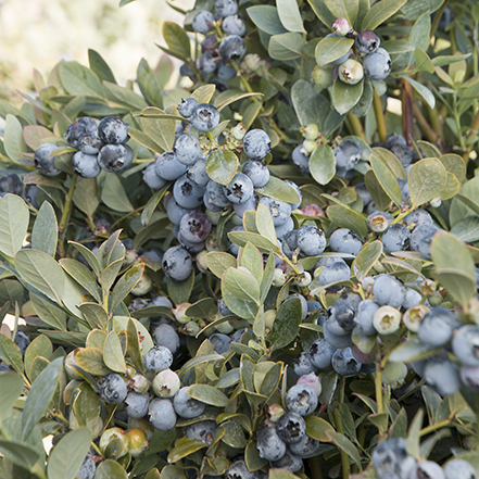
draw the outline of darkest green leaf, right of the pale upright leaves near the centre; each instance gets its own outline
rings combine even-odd
[[[303,318],[302,310],[299,298],[291,298],[281,304],[269,336],[272,352],[287,346],[295,339]]]

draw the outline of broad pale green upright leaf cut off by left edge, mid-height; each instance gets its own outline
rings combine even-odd
[[[28,228],[28,206],[16,194],[0,200],[0,252],[14,257],[20,251]]]

